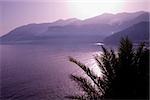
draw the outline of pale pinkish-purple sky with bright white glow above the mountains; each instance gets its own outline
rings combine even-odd
[[[0,36],[29,23],[150,11],[149,0],[0,0]]]

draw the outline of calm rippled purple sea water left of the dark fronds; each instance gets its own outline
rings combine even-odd
[[[77,94],[69,75],[83,73],[68,56],[89,64],[99,49],[93,44],[0,45],[1,99],[63,100]]]

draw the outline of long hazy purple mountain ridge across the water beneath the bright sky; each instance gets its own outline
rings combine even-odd
[[[2,36],[0,41],[1,43],[21,43],[21,41],[32,43],[35,40],[49,40],[52,37],[83,37],[83,39],[91,37],[93,40],[96,37],[95,41],[102,41],[112,33],[143,21],[149,21],[148,12],[105,13],[86,20],[71,18],[52,23],[24,25]]]

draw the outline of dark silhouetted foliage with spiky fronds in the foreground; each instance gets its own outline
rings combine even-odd
[[[103,46],[102,50],[103,54],[95,57],[102,77],[96,76],[80,61],[69,58],[85,72],[87,77],[70,75],[70,78],[82,89],[83,94],[66,96],[66,98],[149,99],[149,49],[144,43],[139,47],[133,47],[128,38],[123,38],[117,52],[107,50]]]

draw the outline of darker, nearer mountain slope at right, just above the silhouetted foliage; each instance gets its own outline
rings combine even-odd
[[[105,44],[118,44],[122,37],[128,37],[133,42],[149,41],[149,22],[140,22],[104,39]]]

